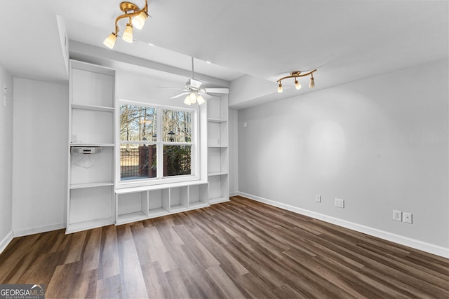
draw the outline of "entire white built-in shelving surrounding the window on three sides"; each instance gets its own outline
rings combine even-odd
[[[70,60],[66,233],[229,200],[227,95],[201,107],[199,180],[116,186],[115,70]],[[206,142],[207,140],[207,142]]]

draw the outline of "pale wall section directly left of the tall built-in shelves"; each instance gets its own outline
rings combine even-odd
[[[65,227],[69,87],[14,78],[13,231]]]

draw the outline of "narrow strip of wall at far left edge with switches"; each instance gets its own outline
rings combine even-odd
[[[6,84],[6,93],[4,85]],[[6,107],[3,104],[6,96]],[[0,65],[0,252],[11,241],[13,212],[13,77]]]

